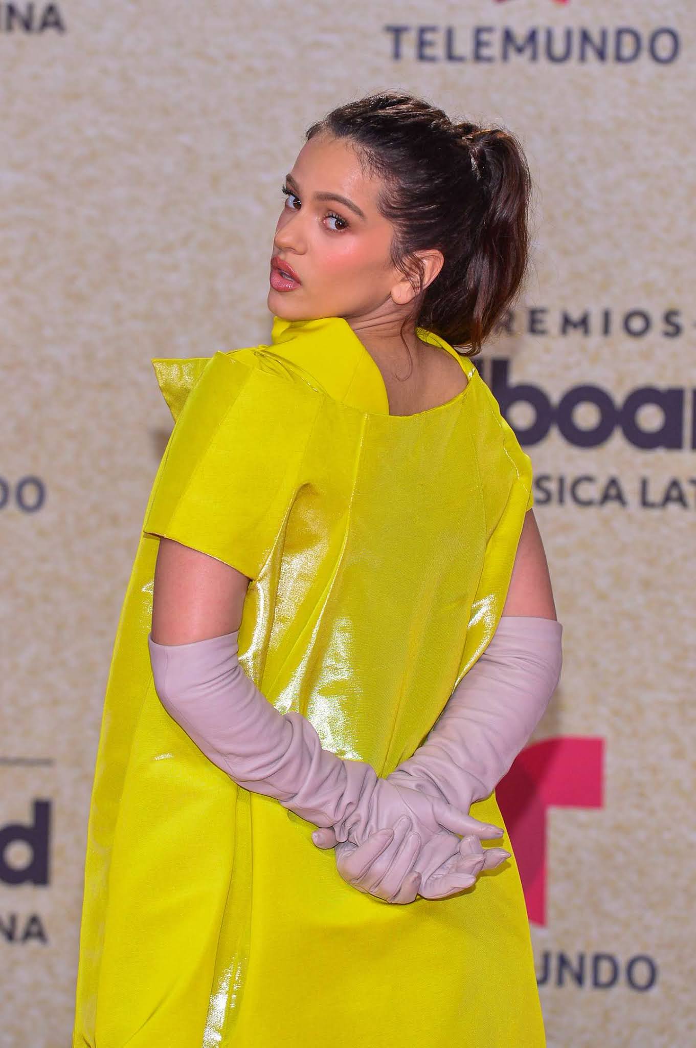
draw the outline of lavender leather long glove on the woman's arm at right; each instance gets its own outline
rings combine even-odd
[[[474,801],[487,798],[529,740],[556,690],[562,631],[555,619],[502,616],[486,651],[452,692],[426,741],[387,776],[387,782],[411,786],[467,810]],[[366,861],[356,872],[355,850],[337,844],[331,830],[316,831],[313,839],[318,847],[336,846],[341,875],[360,890],[374,891],[384,852],[376,856],[374,865]],[[368,856],[366,847],[362,846],[363,854]],[[479,850],[476,842],[472,856]],[[408,877],[412,882],[426,858],[425,849],[414,863],[403,849],[394,858],[388,886],[398,901],[410,901],[404,880]],[[487,859],[480,869],[491,865],[497,863]]]

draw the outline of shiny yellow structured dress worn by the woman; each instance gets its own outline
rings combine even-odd
[[[240,661],[325,748],[386,776],[498,623],[529,457],[472,362],[389,415],[337,316],[155,359],[176,424],[115,638],[88,825],[73,1046],[541,1048],[514,855],[444,900],[342,880],[313,825],[238,787],[173,720],[147,645],[158,536],[251,578]],[[473,815],[504,825],[493,793]],[[510,839],[489,842],[512,851]]]

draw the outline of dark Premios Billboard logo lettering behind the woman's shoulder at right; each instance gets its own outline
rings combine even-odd
[[[520,331],[516,330],[518,316],[511,311],[500,327],[507,334],[545,339],[583,334],[614,340],[647,335],[676,339],[684,332],[678,309],[661,314],[659,329],[643,309],[629,310],[618,322],[608,309],[597,314],[589,310],[577,314],[562,311],[552,328],[547,314],[545,308],[527,310],[524,330]],[[646,471],[632,480],[616,473],[600,475],[591,468],[574,476],[535,472],[537,505],[696,508],[696,470],[693,475],[680,476],[671,471],[657,476],[654,471],[648,473],[651,453],[696,451],[696,389],[674,385],[665,375],[659,385],[643,383],[621,394],[593,383],[569,383],[560,394],[552,394],[544,389],[543,378],[517,380],[513,361],[497,352],[474,358],[473,363],[523,447],[542,443],[552,434],[588,453],[622,441],[633,449],[636,464]]]

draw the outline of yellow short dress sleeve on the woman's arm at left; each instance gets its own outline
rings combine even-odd
[[[142,530],[256,578],[292,505],[316,403],[233,353],[180,363],[174,386],[170,375],[165,390],[158,375],[178,414]],[[192,378],[197,363],[202,370]]]

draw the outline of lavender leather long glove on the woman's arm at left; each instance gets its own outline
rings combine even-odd
[[[185,645],[160,645],[149,634],[148,645],[162,705],[240,786],[330,827],[340,842],[361,844],[403,814],[423,842],[443,831],[500,832],[445,801],[378,778],[364,761],[322,749],[307,718],[294,711],[282,714],[244,673],[238,635],[234,630]]]

